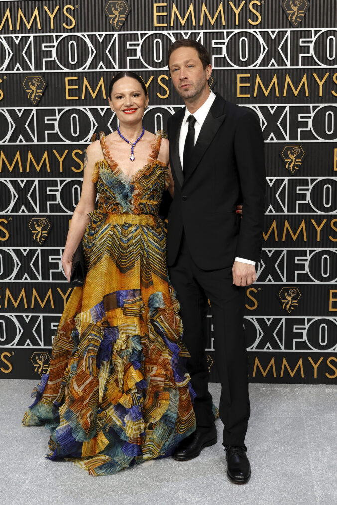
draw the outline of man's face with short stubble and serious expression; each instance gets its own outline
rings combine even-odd
[[[179,47],[170,58],[174,87],[183,99],[198,98],[208,88],[212,65],[205,69],[194,47]]]

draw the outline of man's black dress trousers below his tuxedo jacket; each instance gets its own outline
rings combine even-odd
[[[232,268],[205,271],[190,255],[183,235],[176,263],[169,275],[181,304],[183,342],[190,352],[187,370],[197,397],[194,409],[197,427],[214,426],[212,396],[208,390],[206,326],[208,299],[215,336],[215,366],[221,383],[220,418],[224,424],[223,444],[245,446],[250,402],[248,357],[244,334],[245,288],[233,284]]]

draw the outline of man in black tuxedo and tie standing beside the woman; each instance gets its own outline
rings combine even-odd
[[[167,264],[181,305],[184,343],[191,355],[187,369],[197,394],[197,430],[173,457],[190,460],[217,442],[203,331],[209,299],[222,389],[220,418],[227,474],[232,482],[242,484],[251,476],[245,445],[250,403],[244,300],[245,286],[256,280],[262,245],[263,137],[253,113],[210,90],[210,56],[199,42],[174,42],[168,66],[186,108],[167,122],[175,181],[168,215]],[[241,201],[240,222],[235,209]]]

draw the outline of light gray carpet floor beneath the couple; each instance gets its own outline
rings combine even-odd
[[[117,475],[91,477],[73,463],[44,458],[49,434],[21,426],[35,381],[1,380],[2,505],[336,505],[335,386],[251,384],[247,434],[252,478],[226,476],[219,441],[195,460],[150,461]],[[218,405],[220,387],[210,384]]]

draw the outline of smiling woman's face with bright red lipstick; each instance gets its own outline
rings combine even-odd
[[[120,122],[140,121],[148,102],[148,95],[132,77],[122,77],[112,86],[109,105]]]

